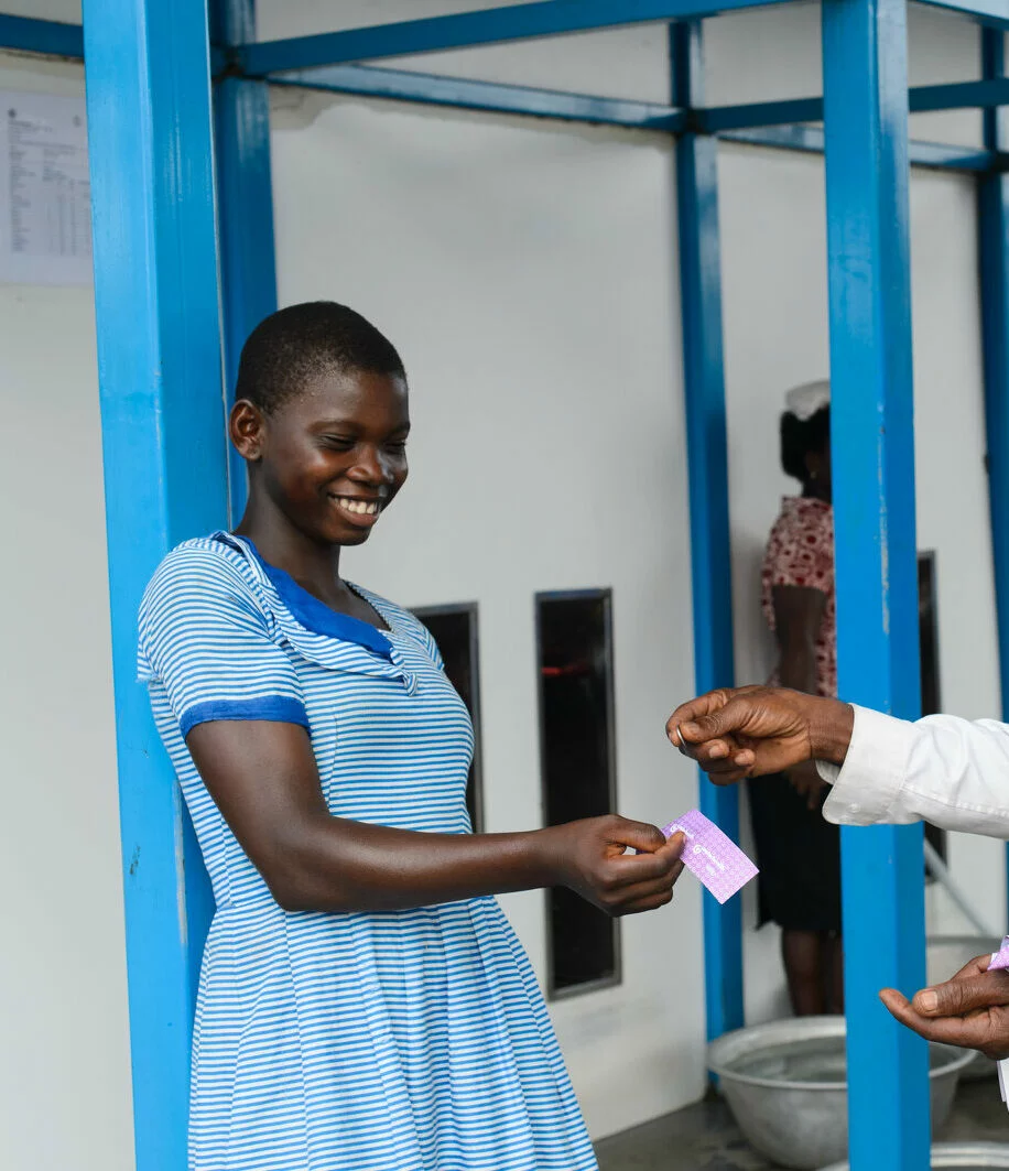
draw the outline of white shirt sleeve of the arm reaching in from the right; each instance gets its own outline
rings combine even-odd
[[[843,826],[929,821],[1009,840],[1009,725],[928,715],[912,724],[865,707],[844,765],[819,762],[823,807]]]

